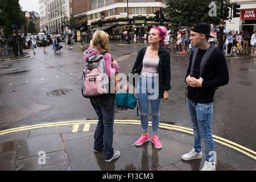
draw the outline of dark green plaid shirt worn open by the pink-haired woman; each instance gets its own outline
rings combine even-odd
[[[133,69],[131,73],[134,73],[134,69],[138,67],[139,64],[143,65],[143,58],[146,52],[147,47],[143,47],[139,49],[137,59],[134,63]],[[159,64],[158,64],[158,74],[159,74],[159,97],[163,98],[164,90],[170,90],[170,82],[171,82],[171,64],[170,64],[170,53],[159,47],[158,51],[159,56]]]

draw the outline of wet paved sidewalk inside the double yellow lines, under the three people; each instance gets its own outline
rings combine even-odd
[[[88,130],[83,132],[85,125]],[[204,147],[202,159],[181,160],[181,155],[192,149],[192,135],[159,129],[162,149],[155,148],[150,141],[135,146],[134,142],[141,135],[141,126],[118,122],[114,124],[113,148],[114,151],[119,150],[121,155],[106,163],[103,151],[93,152],[96,122],[85,125],[80,124],[77,131],[70,124],[0,133],[0,170],[198,171],[204,165]],[[221,144],[214,145],[217,151],[217,171],[255,170],[255,160]],[[45,152],[46,163],[40,163],[43,162],[40,151]]]

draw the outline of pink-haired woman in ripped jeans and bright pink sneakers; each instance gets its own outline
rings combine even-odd
[[[152,27],[148,33],[148,43],[150,46],[139,49],[137,59],[135,60],[131,73],[140,66],[142,69],[137,83],[137,97],[139,110],[141,112],[142,135],[135,142],[136,146],[141,146],[149,140],[148,129],[148,105],[151,105],[152,115],[152,137],[151,142],[155,148],[162,148],[158,138],[158,127],[160,122],[160,104],[168,100],[168,90],[171,89],[171,65],[170,53],[163,48],[166,27]],[[151,85],[151,86],[147,86]],[[129,89],[129,82],[124,87]]]

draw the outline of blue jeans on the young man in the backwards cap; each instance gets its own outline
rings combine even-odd
[[[191,115],[192,128],[194,133],[194,148],[196,152],[202,150],[201,142],[205,144],[205,160],[209,162],[212,155],[210,151],[214,151],[214,143],[210,123],[212,122],[213,103],[195,105],[195,102],[188,99],[188,109]],[[213,160],[212,160],[213,161]]]

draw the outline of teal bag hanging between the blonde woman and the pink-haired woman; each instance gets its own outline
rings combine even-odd
[[[134,109],[137,106],[137,116],[139,116],[138,112],[138,105],[137,105],[137,98],[134,94],[130,93],[122,93],[118,92],[115,93],[115,106],[121,109]]]

